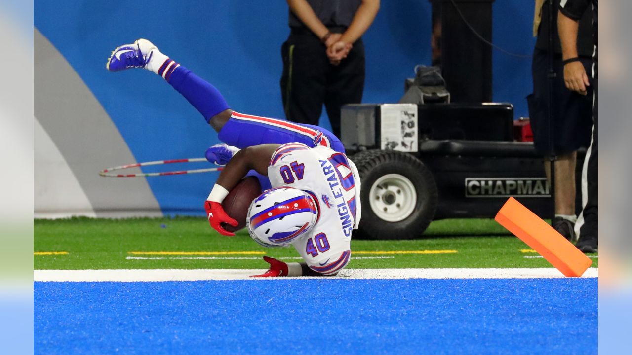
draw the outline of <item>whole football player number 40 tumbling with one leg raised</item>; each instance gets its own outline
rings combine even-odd
[[[360,221],[360,179],[341,141],[318,126],[232,111],[219,90],[139,39],[112,51],[109,71],[145,68],[162,76],[218,133],[225,145],[210,147],[210,162],[226,164],[205,202],[210,225],[234,235],[221,202],[247,174],[264,191],[248,210],[250,236],[264,246],[295,246],[304,263],[270,263],[268,276],[335,275],[349,262],[351,231]],[[249,173],[250,172],[250,173]],[[270,189],[270,187],[272,187]]]

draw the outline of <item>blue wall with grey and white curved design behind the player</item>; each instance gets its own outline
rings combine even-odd
[[[117,45],[150,39],[216,85],[234,109],[283,117],[285,1],[35,0],[34,6],[36,217],[204,213],[216,173],[98,176],[113,165],[202,157],[218,143],[202,116],[158,76],[107,72]],[[532,3],[498,0],[493,11],[494,43],[531,54]],[[430,18],[426,0],[382,1],[363,37],[363,102],[396,102],[415,64],[430,63]],[[530,59],[493,56],[494,100],[513,103],[516,117],[528,116]],[[326,116],[321,124],[329,126]]]

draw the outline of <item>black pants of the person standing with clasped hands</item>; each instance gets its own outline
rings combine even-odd
[[[364,44],[359,39],[339,65],[329,63],[325,45],[312,33],[290,33],[281,47],[281,96],[288,121],[319,123],[325,104],[332,132],[340,136],[340,109],[362,101]]]

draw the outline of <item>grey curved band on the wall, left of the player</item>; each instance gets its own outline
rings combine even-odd
[[[66,159],[97,217],[162,216],[145,178],[99,176],[104,167],[136,160],[68,61],[37,28],[33,36],[35,117]],[[63,208],[60,203],[59,210]]]

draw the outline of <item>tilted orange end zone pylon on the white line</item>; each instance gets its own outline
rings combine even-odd
[[[502,205],[495,220],[568,277],[581,276],[592,264],[573,243],[513,197]]]

